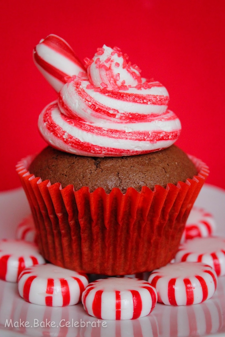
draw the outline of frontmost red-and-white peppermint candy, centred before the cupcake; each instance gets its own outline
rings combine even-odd
[[[135,319],[156,306],[157,294],[148,282],[110,277],[88,284],[82,295],[85,311],[101,319]]]

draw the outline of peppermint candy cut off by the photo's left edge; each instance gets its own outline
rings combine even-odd
[[[17,282],[20,273],[27,267],[45,263],[34,243],[22,240],[0,241],[0,278]]]

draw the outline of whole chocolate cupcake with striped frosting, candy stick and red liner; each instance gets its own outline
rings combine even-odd
[[[17,165],[42,255],[90,274],[166,265],[208,175],[173,145],[181,126],[166,88],[117,47],[97,49],[85,70],[49,35],[34,61],[58,92],[38,121],[49,146]]]

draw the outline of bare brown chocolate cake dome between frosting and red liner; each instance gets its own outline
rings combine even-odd
[[[138,192],[142,186],[166,188],[168,183],[176,185],[198,174],[194,163],[175,145],[138,156],[104,158],[77,156],[48,146],[35,157],[29,171],[51,184],[60,182],[62,188],[72,184],[75,191],[88,186],[94,192],[102,187],[106,193],[114,187],[122,193],[129,187]]]

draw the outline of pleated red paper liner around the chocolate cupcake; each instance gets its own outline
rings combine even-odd
[[[166,265],[174,257],[185,222],[208,176],[208,167],[190,156],[199,174],[125,194],[101,187],[74,191],[30,174],[33,157],[17,165],[33,213],[41,254],[51,263],[78,272],[136,274]]]

